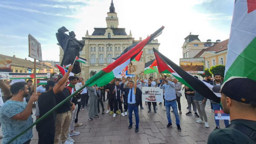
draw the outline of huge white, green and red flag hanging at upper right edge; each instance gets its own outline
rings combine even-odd
[[[224,81],[241,76],[256,81],[256,1],[236,0]]]

